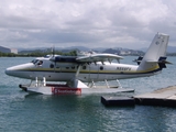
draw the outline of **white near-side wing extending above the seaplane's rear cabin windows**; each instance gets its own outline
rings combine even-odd
[[[123,57],[114,54],[90,54],[87,56],[80,56],[76,58],[76,61],[80,63],[96,63],[96,62],[111,63],[113,59],[117,59],[118,62],[120,62],[120,59],[123,59]]]

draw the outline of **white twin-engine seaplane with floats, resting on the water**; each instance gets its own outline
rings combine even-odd
[[[120,79],[148,77],[166,68],[166,48],[169,35],[157,33],[145,55],[135,62],[138,65],[120,64],[122,56],[116,54],[86,54],[77,56],[47,55],[30,63],[12,66],[6,74],[31,79],[28,85],[19,85],[25,91],[44,95],[81,95],[134,91],[111,87],[108,81],[119,84]],[[98,87],[96,82],[105,82]]]

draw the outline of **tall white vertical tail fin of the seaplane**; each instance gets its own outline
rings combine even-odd
[[[169,35],[157,33],[153,38],[147,52],[142,58],[139,69],[140,70],[156,70],[160,67],[161,58],[166,58],[166,50],[168,45]]]

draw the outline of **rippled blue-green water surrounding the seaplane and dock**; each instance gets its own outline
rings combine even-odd
[[[131,63],[135,57],[125,57]],[[31,62],[33,58],[0,58],[0,131],[3,132],[174,132],[176,108],[114,107],[100,102],[102,95],[45,96],[28,95],[19,84],[29,80],[4,74],[7,67]],[[168,57],[175,63],[176,57]],[[176,85],[176,66],[169,65],[162,74],[121,80],[123,87],[135,88],[135,95]]]

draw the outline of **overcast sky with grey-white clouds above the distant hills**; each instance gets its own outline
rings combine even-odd
[[[176,46],[176,0],[0,0],[0,45],[125,47],[157,32]]]

